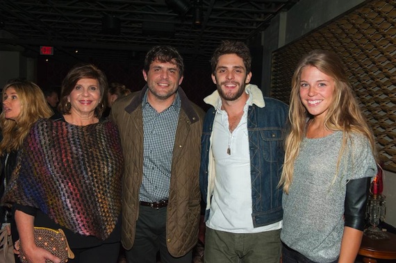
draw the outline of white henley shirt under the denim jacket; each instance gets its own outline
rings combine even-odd
[[[245,90],[249,94],[248,90]],[[251,219],[251,175],[247,100],[240,123],[231,133],[228,114],[219,99],[213,124],[212,148],[215,158],[215,189],[206,226],[233,233],[255,233],[281,228],[281,222],[254,228]]]

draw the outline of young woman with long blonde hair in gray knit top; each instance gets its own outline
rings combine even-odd
[[[289,119],[282,262],[355,262],[376,150],[335,53],[314,50],[299,62]]]

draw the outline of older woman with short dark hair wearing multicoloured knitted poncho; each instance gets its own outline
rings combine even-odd
[[[107,80],[93,65],[71,69],[62,83],[63,118],[41,119],[20,151],[5,201],[28,262],[60,262],[34,243],[34,226],[61,228],[75,257],[117,262],[124,169],[117,127],[101,121]]]

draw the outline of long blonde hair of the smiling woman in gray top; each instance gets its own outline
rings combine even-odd
[[[306,67],[316,67],[322,73],[334,80],[333,101],[324,119],[324,127],[327,130],[342,130],[343,144],[338,155],[337,169],[347,146],[351,133],[365,135],[370,142],[374,157],[377,156],[374,135],[361,112],[354,91],[352,90],[343,62],[330,51],[313,50],[299,61],[292,76],[292,91],[290,94],[290,133],[285,142],[285,162],[279,185],[283,185],[283,191],[288,194],[292,183],[295,160],[299,154],[299,147],[306,135],[307,119],[313,116],[306,110],[299,97],[300,77]]]

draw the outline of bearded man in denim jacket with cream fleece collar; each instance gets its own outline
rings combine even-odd
[[[206,202],[204,262],[279,263],[288,106],[249,84],[251,55],[225,40],[211,59],[217,90],[204,101],[201,192]]]

